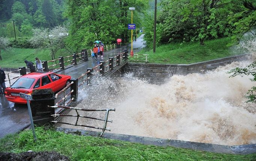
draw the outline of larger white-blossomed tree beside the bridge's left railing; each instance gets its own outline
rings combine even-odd
[[[33,37],[30,38],[30,43],[35,48],[49,49],[52,60],[55,59],[58,50],[66,49],[72,53],[70,48],[65,44],[65,39],[68,36],[68,29],[65,26],[57,26],[53,29],[36,28],[32,31]]]

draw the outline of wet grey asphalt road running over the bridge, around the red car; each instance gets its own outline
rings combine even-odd
[[[134,54],[144,47],[143,35],[137,38],[137,41],[133,41]],[[87,68],[92,68],[99,64],[100,61],[106,61],[109,57],[116,56],[117,53],[121,53],[124,48],[127,48],[129,53],[131,51],[131,44],[123,46],[119,49],[113,49],[108,52],[104,52],[104,58],[98,58],[98,60],[92,60],[82,62],[71,68],[57,72],[58,74],[71,75],[72,78],[78,78],[81,74],[87,71]],[[0,97],[0,138],[6,134],[16,133],[30,125],[29,114],[27,105],[17,104],[9,102],[4,96]]]

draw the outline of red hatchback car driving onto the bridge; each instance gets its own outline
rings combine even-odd
[[[14,103],[26,104],[27,100],[20,97],[21,93],[31,95],[33,89],[52,89],[57,92],[69,84],[71,76],[53,72],[32,72],[20,77],[11,87],[5,89],[5,97]]]

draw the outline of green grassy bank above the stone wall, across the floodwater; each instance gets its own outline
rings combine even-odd
[[[242,49],[233,51],[227,47],[230,41],[227,37],[205,41],[203,46],[199,42],[168,44],[158,46],[155,53],[144,49],[139,54],[149,54],[149,63],[191,64],[245,53]]]

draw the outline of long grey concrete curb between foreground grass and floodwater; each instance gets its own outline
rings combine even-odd
[[[97,132],[97,131],[68,129],[68,128],[62,128],[62,127],[57,127],[56,130],[62,131],[67,134],[69,133],[81,134],[84,136],[94,136],[94,137],[98,137],[100,134],[100,132]],[[189,141],[183,141],[183,140],[160,139],[160,138],[154,138],[154,137],[144,137],[144,136],[134,136],[134,135],[114,134],[114,133],[104,133],[103,138],[128,141],[132,143],[141,143],[144,145],[173,146],[176,148],[186,148],[186,149],[215,152],[215,153],[225,153],[225,154],[256,153],[256,144],[227,146],[227,145],[218,145],[218,144],[210,144],[210,143],[198,143],[198,142],[189,142]]]

